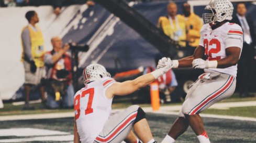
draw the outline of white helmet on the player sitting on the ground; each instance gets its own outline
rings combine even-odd
[[[102,77],[111,77],[107,70],[101,64],[97,63],[93,63],[87,66],[83,71],[83,75],[84,84],[99,80]]]

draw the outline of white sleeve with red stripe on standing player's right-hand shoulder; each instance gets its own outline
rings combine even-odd
[[[243,45],[243,31],[242,28],[235,23],[230,23],[230,28],[225,39],[225,48],[228,47],[239,47]]]

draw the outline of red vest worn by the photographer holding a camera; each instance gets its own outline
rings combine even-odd
[[[51,54],[52,56],[55,53],[54,50],[51,50],[51,51],[48,51],[46,54]],[[55,62],[52,66],[52,68],[50,69],[50,79],[54,79],[54,80],[57,80],[57,81],[66,81],[67,84],[71,84],[71,80],[72,80],[72,73],[71,73],[71,58],[68,54],[63,54],[61,56],[61,58]],[[58,79],[57,77],[57,71],[58,70],[67,70],[69,71],[69,75],[66,76],[65,79]]]

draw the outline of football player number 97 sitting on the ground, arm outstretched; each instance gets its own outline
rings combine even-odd
[[[121,142],[134,128],[142,142],[155,142],[144,111],[136,105],[109,116],[115,95],[128,95],[148,85],[172,67],[165,66],[135,80],[116,82],[101,64],[90,64],[84,69],[85,87],[74,96],[74,142]],[[129,138],[129,137],[128,137]]]

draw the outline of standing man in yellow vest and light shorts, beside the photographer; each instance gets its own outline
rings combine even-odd
[[[21,33],[21,41],[23,45],[23,54],[21,61],[24,63],[25,69],[25,106],[24,110],[32,110],[34,107],[29,105],[29,96],[31,87],[38,85],[46,71],[43,62],[43,36],[40,28],[36,25],[39,22],[36,11],[28,11],[25,15],[29,24],[23,28]],[[44,96],[44,88],[40,86],[40,94],[42,103],[46,103]]]

